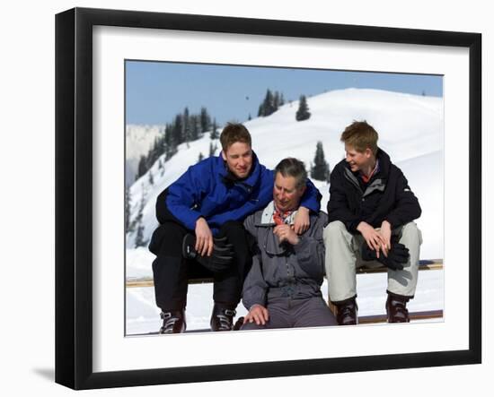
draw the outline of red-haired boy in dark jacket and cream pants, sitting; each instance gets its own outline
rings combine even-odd
[[[365,121],[348,125],[341,134],[346,159],[331,172],[325,265],[341,325],[357,324],[356,267],[388,267],[389,323],[410,321],[406,304],[417,286],[421,234],[413,220],[419,201],[377,139]]]

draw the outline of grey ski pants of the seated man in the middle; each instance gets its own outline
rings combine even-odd
[[[266,308],[269,312],[266,324],[245,323],[241,330],[337,325],[336,318],[322,297],[271,298]]]

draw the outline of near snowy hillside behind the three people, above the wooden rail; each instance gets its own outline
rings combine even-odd
[[[287,156],[303,160],[307,168],[313,161],[315,144],[322,141],[326,160],[332,168],[344,156],[340,134],[353,120],[373,125],[380,134],[379,145],[387,151],[394,163],[403,169],[410,187],[422,204],[419,227],[428,236],[422,247],[422,257],[442,257],[443,203],[443,101],[390,91],[348,89],[330,91],[308,99],[312,117],[296,122],[298,102],[279,108],[269,117],[259,117],[245,123],[252,135],[252,147],[260,161],[274,168]],[[198,160],[199,153],[209,152],[208,134],[195,142],[183,143],[171,160],[159,169],[157,162],[149,175],[139,178],[131,186],[131,219],[135,219],[141,197],[146,205],[143,211],[144,238],[149,240],[157,223],[154,218],[156,196]],[[216,141],[219,147],[219,142]],[[216,155],[219,153],[216,151]],[[424,177],[427,175],[427,178]],[[329,186],[315,181],[323,194],[322,209],[329,199]],[[440,219],[438,218],[440,215]],[[128,249],[135,246],[136,231],[129,233]]]

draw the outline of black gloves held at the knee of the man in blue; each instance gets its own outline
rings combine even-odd
[[[196,251],[196,237],[185,235],[181,253],[185,259],[195,259],[211,272],[225,272],[234,260],[234,246],[228,244],[226,237],[213,237],[213,253],[211,256],[203,256]]]

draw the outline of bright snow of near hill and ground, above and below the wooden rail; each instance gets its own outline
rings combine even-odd
[[[419,197],[422,216],[417,221],[424,243],[422,259],[443,258],[443,100],[390,91],[348,89],[330,91],[308,99],[312,117],[296,122],[298,103],[279,108],[269,117],[244,123],[252,135],[252,147],[261,163],[274,168],[287,157],[303,160],[307,168],[313,161],[316,142],[321,141],[326,160],[332,168],[344,156],[340,134],[353,120],[366,120],[379,133],[379,146],[390,154],[393,162],[408,178],[412,191]],[[144,238],[149,240],[157,223],[154,204],[158,194],[191,165],[199,153],[208,155],[208,134],[198,141],[183,143],[169,161],[156,162],[130,188],[131,220],[137,217],[139,203],[144,196]],[[219,147],[219,142],[216,141]],[[216,151],[217,154],[217,151]],[[314,181],[320,189],[322,209],[329,199],[329,186]],[[136,232],[127,236],[128,278],[152,277],[154,255],[146,248],[135,248]],[[385,274],[358,276],[358,304],[360,315],[384,313]],[[323,286],[326,289],[326,286]],[[208,327],[212,302],[212,286],[190,286],[187,306],[188,329]],[[441,309],[443,302],[443,271],[420,272],[416,298],[411,310]],[[326,293],[324,292],[324,296]],[[243,315],[239,306],[238,315]],[[153,288],[127,289],[127,334],[154,332],[160,326],[159,309],[154,304]]]

